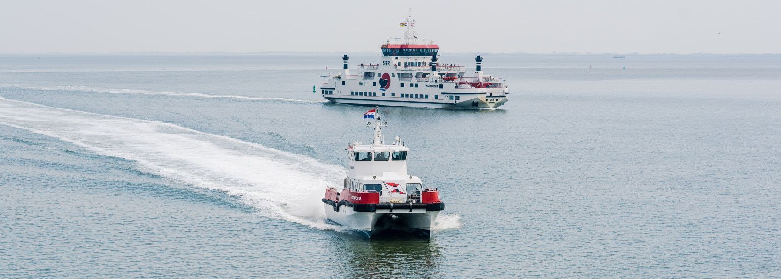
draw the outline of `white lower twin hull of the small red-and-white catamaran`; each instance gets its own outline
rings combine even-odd
[[[358,212],[351,207],[339,207],[339,211],[333,210],[333,206],[325,205],[326,216],[330,221],[337,224],[341,224],[348,228],[355,230],[365,231],[367,235],[372,235],[376,232],[377,221],[384,215],[391,214],[394,221],[398,221],[405,228],[411,228],[423,231],[426,235],[430,235],[431,228],[434,221],[437,221],[439,216],[438,210],[426,211],[425,209],[413,209],[413,210],[381,210],[378,209],[374,212]]]

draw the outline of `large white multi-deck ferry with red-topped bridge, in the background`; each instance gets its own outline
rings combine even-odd
[[[348,55],[341,72],[326,77],[320,94],[337,104],[422,108],[497,108],[510,94],[504,79],[483,74],[483,58],[475,58],[476,71],[465,76],[460,65],[440,64],[437,44],[416,44],[415,20],[409,16],[405,44],[382,45],[380,64],[364,65],[352,75]]]

